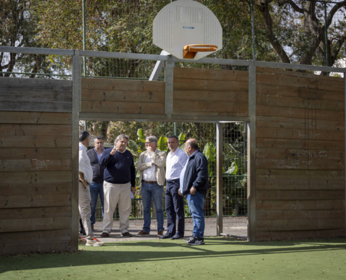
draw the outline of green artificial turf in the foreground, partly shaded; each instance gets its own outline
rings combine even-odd
[[[346,279],[346,239],[205,240],[203,246],[171,239],[122,241],[80,246],[75,253],[0,257],[0,280]]]

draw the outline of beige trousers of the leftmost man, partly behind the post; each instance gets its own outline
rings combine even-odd
[[[78,193],[78,208],[80,218],[82,218],[82,224],[85,229],[86,239],[94,238],[94,234],[92,233],[92,225],[90,223],[90,201],[92,200],[90,197],[90,189],[89,186],[85,188],[82,182],[78,183],[79,193]]]

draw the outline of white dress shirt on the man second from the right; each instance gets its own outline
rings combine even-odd
[[[179,147],[174,151],[174,153],[168,153],[166,161],[166,180],[179,179],[186,161],[187,154]]]

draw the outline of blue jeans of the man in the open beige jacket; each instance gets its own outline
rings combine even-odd
[[[150,232],[150,222],[152,219],[152,200],[154,200],[156,217],[157,217],[157,231],[164,230],[164,208],[162,201],[164,200],[164,186],[159,186],[158,183],[148,184],[142,182],[142,193],[143,202],[143,218],[144,225],[143,230]]]

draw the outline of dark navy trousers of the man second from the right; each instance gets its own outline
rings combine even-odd
[[[179,195],[180,179],[167,180],[165,201],[167,216],[167,234],[179,235],[184,237],[185,218],[184,218],[184,197]],[[175,222],[178,220],[178,230]]]

